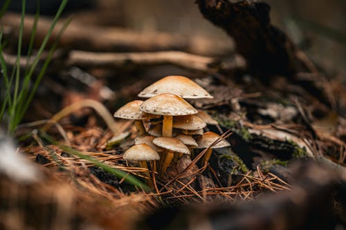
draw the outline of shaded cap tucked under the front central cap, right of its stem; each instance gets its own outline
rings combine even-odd
[[[197,115],[185,115],[173,118],[173,128],[185,130],[197,130],[206,127],[206,122]]]

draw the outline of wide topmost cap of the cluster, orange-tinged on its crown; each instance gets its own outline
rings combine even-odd
[[[142,90],[138,97],[154,97],[161,93],[174,93],[183,98],[212,98],[204,88],[188,77],[167,76]]]

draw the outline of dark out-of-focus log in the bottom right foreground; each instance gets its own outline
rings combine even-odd
[[[208,207],[176,207],[156,211],[145,229],[335,229],[345,224],[343,193],[346,174],[312,161],[291,167],[293,190],[264,195],[253,202]]]

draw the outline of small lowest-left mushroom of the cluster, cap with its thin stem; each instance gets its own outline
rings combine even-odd
[[[147,161],[153,161],[153,168],[155,168],[155,160],[160,160],[160,155],[149,145],[147,144],[136,144],[131,146],[131,148],[125,151],[122,158],[129,161],[139,162],[140,167],[148,169]],[[149,186],[152,188],[152,182],[150,181],[150,173],[146,171]]]

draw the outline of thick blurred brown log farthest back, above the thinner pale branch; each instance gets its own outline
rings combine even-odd
[[[21,16],[6,14],[1,18],[5,37],[9,41],[18,40]],[[34,17],[26,16],[23,41],[30,41]],[[53,43],[64,21],[58,21],[49,41]],[[51,26],[51,19],[40,17],[35,36],[35,47],[38,48]],[[224,54],[233,50],[231,43],[215,43],[210,39],[198,36],[183,36],[165,32],[138,32],[123,28],[106,28],[82,25],[71,22],[60,39],[60,48],[92,50],[92,51],[153,51],[153,50],[184,50],[201,55]]]

